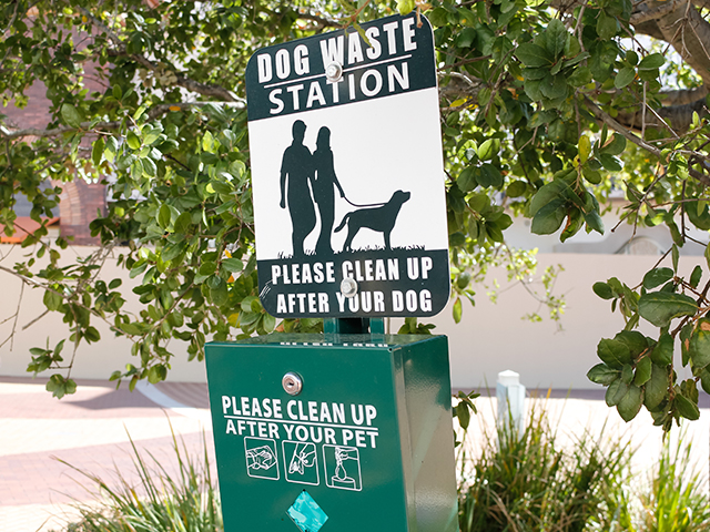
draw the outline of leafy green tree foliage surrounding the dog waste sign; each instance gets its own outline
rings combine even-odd
[[[170,340],[201,358],[206,338],[274,330],[256,297],[246,61],[267,44],[412,9],[432,22],[439,61],[455,315],[488,265],[505,259],[515,278],[529,270],[505,245],[511,216],[561,242],[604,233],[601,209],[622,190],[623,219],[666,226],[674,244],[637,286],[595,285],[626,327],[599,342],[589,378],[623,419],[642,406],[666,429],[697,419],[698,386],[710,391],[710,282],[706,268],[679,270],[678,257],[697,241],[692,228],[710,229],[703,0],[6,2],[3,101],[22,106],[41,82],[51,105],[45,129],[0,122],[0,223],[14,231],[18,194],[41,221],[72,180],[103,180],[112,194],[87,260],[61,266],[68,243],[48,242],[42,226],[23,243],[34,256],[7,270],[45,290],[74,346],[100,339],[97,320],[130,337],[136,361],[113,378],[131,385],[165,378]],[[54,186],[41,188],[45,180]],[[140,279],[140,315],[124,310],[120,280],[100,277],[111,253]],[[549,293],[542,300],[559,310]],[[641,321],[657,334],[635,330]],[[62,367],[62,345],[34,349],[30,370]],[[693,378],[679,382],[679,364]],[[55,395],[72,391],[65,372],[51,382]]]

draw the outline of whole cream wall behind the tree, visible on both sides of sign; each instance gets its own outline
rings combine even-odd
[[[87,253],[90,248],[77,247],[74,254]],[[23,250],[18,247],[0,246],[0,266],[10,268],[21,259]],[[70,252],[67,252],[70,257]],[[556,294],[564,294],[567,309],[562,317],[562,330],[557,331],[556,324],[549,319],[532,324],[521,319],[527,313],[538,310],[535,301],[521,286],[507,289],[504,272],[491,273],[501,279],[500,295],[497,304],[491,304],[485,289],[477,289],[476,306],[464,301],[464,319],[454,324],[450,306],[439,316],[423,321],[435,323],[436,334],[449,337],[452,357],[452,383],[457,388],[480,388],[488,383],[495,386],[496,376],[505,369],[513,369],[521,375],[521,381],[530,388],[596,388],[589,382],[586,372],[598,362],[596,346],[601,337],[612,337],[623,327],[621,316],[610,313],[610,303],[598,298],[591,290],[597,280],[606,280],[611,276],[619,277],[629,286],[635,286],[643,274],[653,266],[658,257],[638,255],[599,255],[599,254],[540,254],[538,273],[550,264],[565,267],[557,280]],[[681,257],[681,274],[689,275],[696,264],[703,264],[702,257]],[[134,284],[128,279],[114,264],[108,265],[106,278],[119,274],[126,279],[124,286]],[[11,274],[0,272],[2,282],[2,304],[0,321],[10,317],[17,309],[20,283]],[[126,291],[126,299],[132,294]],[[0,375],[29,376],[26,372],[30,360],[31,347],[44,347],[47,337],[53,347],[65,335],[65,325],[61,317],[48,315],[27,330],[22,327],[42,314],[43,294],[40,290],[26,288],[20,317],[17,323],[17,335],[12,349],[10,342],[0,348]],[[126,304],[138,311],[135,301]],[[540,309],[542,313],[544,309]],[[392,323],[396,331],[400,320]],[[12,330],[13,320],[0,325],[0,342]],[[99,327],[102,340],[92,346],[82,345],[77,354],[77,378],[106,379],[115,369],[134,361],[130,355],[130,341],[116,338],[108,326]],[[646,330],[652,334],[652,328]],[[173,341],[175,357],[169,380],[203,381],[204,365],[187,362],[186,345]],[[71,356],[71,346],[63,354]]]

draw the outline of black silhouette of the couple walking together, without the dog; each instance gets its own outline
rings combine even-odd
[[[335,221],[335,187],[345,197],[337,181],[331,150],[331,130],[321,127],[316,140],[316,151],[303,144],[306,124],[296,120],[293,123],[293,142],[284,151],[281,163],[281,208],[286,208],[293,227],[293,256],[305,256],[304,241],[315,228],[316,216],[313,201],[318,207],[321,234],[315,245],[317,254],[333,254],[331,235]],[[310,186],[308,186],[310,185]],[[313,190],[313,197],[311,191]]]

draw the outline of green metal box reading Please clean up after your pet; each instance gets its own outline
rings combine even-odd
[[[457,531],[446,337],[337,340],[206,346],[225,531]]]

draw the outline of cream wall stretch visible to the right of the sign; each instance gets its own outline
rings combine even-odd
[[[599,389],[586,374],[596,364],[600,338],[613,337],[623,328],[623,318],[611,314],[610,301],[591,290],[598,280],[618,277],[636,286],[659,257],[639,255],[540,254],[538,274],[548,265],[565,267],[557,280],[556,294],[564,294],[567,308],[561,319],[564,330],[549,319],[542,323],[523,320],[521,316],[538,310],[538,304],[523,286],[507,291],[501,283],[498,303],[488,300],[485,290],[476,297],[476,306],[464,301],[464,318],[456,325],[450,305],[442,314],[423,323],[434,323],[436,334],[449,337],[452,385],[455,388],[494,388],[499,371],[511,369],[520,374],[528,389],[576,388]],[[681,257],[681,275],[690,275],[703,257]],[[706,265],[707,267],[707,265]],[[496,273],[491,274],[491,277]],[[505,273],[498,273],[506,279]],[[478,290],[477,290],[478,291]],[[545,310],[540,309],[542,315]],[[394,321],[394,320],[393,320]],[[393,330],[398,327],[393,323]],[[658,335],[653,327],[640,329],[648,336]]]

